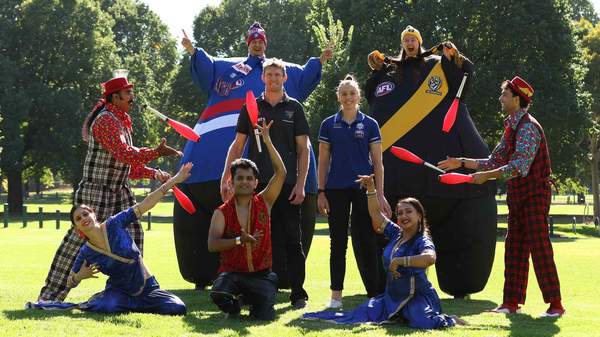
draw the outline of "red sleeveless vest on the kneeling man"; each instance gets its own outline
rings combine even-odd
[[[225,216],[224,239],[231,239],[241,234],[240,223],[235,212],[235,198],[229,199],[219,210]],[[246,231],[253,235],[261,231],[262,237],[251,246],[242,243],[229,250],[221,252],[221,267],[219,272],[255,272],[270,269],[273,260],[271,255],[271,218],[267,204],[262,196],[255,194],[252,197],[250,211],[250,228]]]

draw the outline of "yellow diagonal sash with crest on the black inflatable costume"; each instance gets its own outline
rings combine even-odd
[[[382,149],[387,150],[425,118],[448,94],[448,81],[437,62],[412,97],[381,127]]]

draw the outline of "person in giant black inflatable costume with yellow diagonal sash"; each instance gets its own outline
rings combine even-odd
[[[450,42],[425,51],[420,32],[411,26],[402,32],[401,40],[399,57],[382,58],[377,51],[368,57],[373,73],[365,94],[381,127],[384,167],[393,172],[386,174],[385,196],[390,205],[416,197],[429,210],[440,288],[464,297],[481,291],[491,272],[496,246],[495,184],[443,185],[439,173],[399,160],[390,147],[406,148],[430,163],[447,156],[487,157],[489,149],[462,101],[454,127],[442,132],[444,116],[464,75],[467,79],[473,75],[473,64]]]

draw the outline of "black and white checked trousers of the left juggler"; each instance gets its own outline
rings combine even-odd
[[[120,190],[114,190],[107,186],[81,182],[75,192],[75,204],[90,206],[96,213],[97,221],[103,222],[111,215],[135,205],[135,198],[128,186],[122,186]],[[140,223],[129,224],[127,232],[135,241],[140,252],[143,253],[144,231]],[[54,254],[45,285],[40,291],[38,300],[64,301],[69,293],[67,277],[73,263],[75,263],[79,248],[84,243],[85,239],[81,238],[73,227],[67,231]]]

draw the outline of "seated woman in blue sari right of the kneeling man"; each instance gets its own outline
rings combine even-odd
[[[456,316],[442,314],[440,299],[425,275],[425,269],[435,263],[436,255],[421,203],[414,198],[400,200],[396,205],[396,224],[381,213],[373,176],[359,176],[357,182],[367,189],[373,229],[390,240],[383,251],[385,292],[349,312],[321,311],[306,313],[303,318],[339,324],[404,320],[418,329],[464,324]]]

